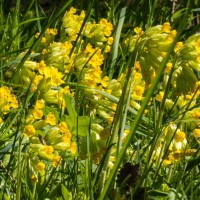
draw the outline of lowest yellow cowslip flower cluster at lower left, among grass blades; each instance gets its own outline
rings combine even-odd
[[[76,143],[72,141],[67,124],[64,121],[58,124],[55,114],[47,110],[45,101],[37,100],[29,109],[22,131],[29,142],[28,154],[31,155],[31,173],[35,181],[38,181],[38,173],[44,175],[45,161],[51,161],[52,166],[57,167],[62,161],[62,152],[76,154]]]

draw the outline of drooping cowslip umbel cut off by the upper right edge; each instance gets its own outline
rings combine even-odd
[[[176,70],[173,73],[175,88],[178,95],[194,92],[200,72],[200,34],[189,37],[180,45],[177,53]]]

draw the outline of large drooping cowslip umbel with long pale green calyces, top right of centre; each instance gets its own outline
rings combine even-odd
[[[136,27],[134,28],[134,32],[136,35],[125,39],[124,48],[132,52],[137,46],[141,73],[146,83],[146,88],[149,88],[176,36],[176,31],[171,30],[169,22],[166,22],[163,25],[149,27],[146,31],[142,31],[141,28]]]

